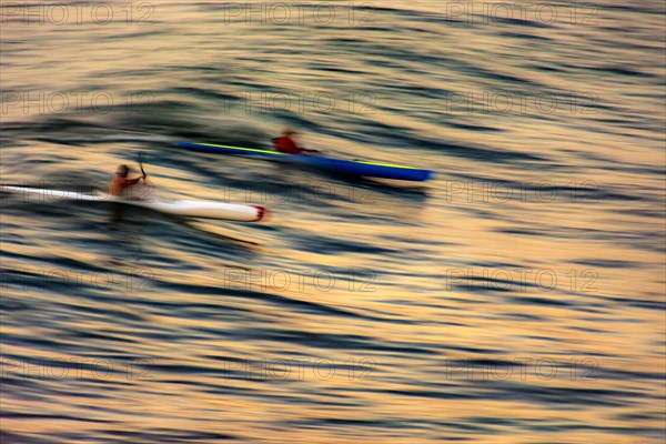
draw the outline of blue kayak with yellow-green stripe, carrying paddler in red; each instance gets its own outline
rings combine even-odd
[[[218,154],[235,154],[264,158],[275,161],[286,161],[289,163],[303,164],[309,167],[321,168],[339,174],[364,175],[369,178],[397,179],[423,182],[432,179],[434,175],[430,170],[422,170],[413,167],[394,165],[387,163],[366,162],[362,160],[343,160],[322,158],[315,155],[293,155],[280,151],[260,150],[255,148],[240,148],[228,145],[215,145],[212,143],[191,143],[180,142],[180,148],[188,150],[218,153]]]

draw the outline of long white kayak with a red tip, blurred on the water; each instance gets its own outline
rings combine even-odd
[[[78,191],[42,190],[29,186],[0,186],[0,191],[20,193],[26,201],[48,203],[60,201],[118,202],[128,205],[147,208],[162,213],[201,219],[222,219],[239,222],[259,222],[268,210],[258,205],[240,205],[225,202],[205,201],[164,201],[164,200],[128,200],[109,194],[87,194]]]

